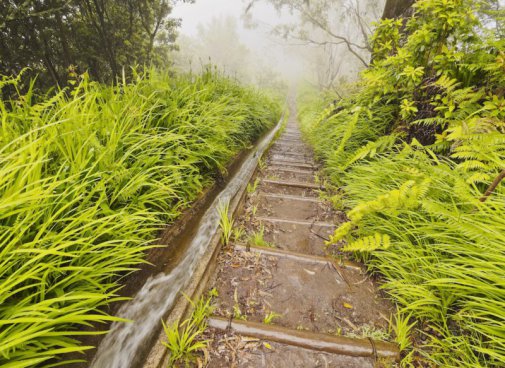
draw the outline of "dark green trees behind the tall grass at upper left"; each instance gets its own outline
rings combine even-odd
[[[1,1],[0,74],[29,67],[48,88],[67,85],[73,72],[111,82],[130,66],[164,66],[180,23],[170,17],[177,1]]]

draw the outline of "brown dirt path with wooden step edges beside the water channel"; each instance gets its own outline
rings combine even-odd
[[[380,367],[398,355],[391,307],[360,265],[332,261],[324,239],[342,215],[320,200],[296,113],[249,185],[210,288],[208,367]]]

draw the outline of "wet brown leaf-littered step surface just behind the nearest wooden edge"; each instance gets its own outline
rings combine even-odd
[[[214,285],[216,315],[318,333],[356,335],[387,329],[390,309],[359,270],[255,252],[229,251]],[[366,331],[365,331],[366,330]]]

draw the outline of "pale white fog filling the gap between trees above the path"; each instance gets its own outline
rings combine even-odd
[[[182,20],[175,66],[219,70],[261,87],[304,81],[339,88],[369,59],[366,37],[385,0],[196,0],[177,3]],[[252,5],[251,5],[252,4]],[[276,6],[274,6],[276,5]],[[324,27],[315,26],[314,19]],[[356,46],[349,51],[343,37]]]

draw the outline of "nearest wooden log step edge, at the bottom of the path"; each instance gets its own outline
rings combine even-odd
[[[333,336],[310,331],[293,330],[276,325],[266,325],[264,323],[228,320],[214,316],[209,318],[208,325],[221,331],[231,330],[243,336],[330,354],[351,357],[381,357],[394,359],[395,361],[399,361],[400,359],[398,346],[384,341]]]

